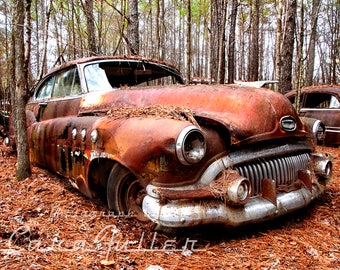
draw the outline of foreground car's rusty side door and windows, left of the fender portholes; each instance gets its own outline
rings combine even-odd
[[[78,114],[81,96],[76,67],[52,74],[37,86],[26,107],[33,162],[67,176],[67,119]]]

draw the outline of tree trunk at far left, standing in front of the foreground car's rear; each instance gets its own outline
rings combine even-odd
[[[25,179],[31,175],[29,161],[29,148],[26,130],[25,104],[27,97],[27,78],[25,77],[25,46],[24,46],[24,24],[25,24],[25,3],[30,6],[28,1],[15,1],[15,12],[13,25],[13,35],[15,37],[15,103],[14,103],[14,123],[16,130],[16,144],[18,162],[16,165],[17,179]]]

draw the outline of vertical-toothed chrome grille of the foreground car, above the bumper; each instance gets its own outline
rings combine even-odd
[[[276,187],[290,185],[298,178],[298,171],[306,169],[310,160],[307,153],[291,156],[257,159],[250,163],[236,166],[239,174],[248,178],[252,184],[252,196],[262,191],[262,180],[273,179]]]

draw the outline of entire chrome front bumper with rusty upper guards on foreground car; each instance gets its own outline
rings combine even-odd
[[[222,170],[231,169],[235,164],[235,159],[223,157],[212,163],[194,185],[162,190],[149,184],[146,187],[147,195],[143,199],[142,208],[150,220],[164,227],[188,227],[211,223],[236,227],[262,222],[306,207],[324,192],[331,177],[332,163],[322,154],[312,154],[310,162],[313,164],[314,172],[300,169],[296,178],[299,183],[297,188],[278,192],[274,180],[263,180],[261,193],[248,198],[244,204],[237,202],[232,204],[228,192],[222,194],[224,197],[222,200],[218,197],[202,196],[206,194],[204,193],[206,190],[202,193],[202,187],[218,181],[214,181],[216,176]],[[241,175],[234,171],[223,181],[237,184],[238,176]],[[237,195],[237,188],[231,186],[229,190],[236,190]]]

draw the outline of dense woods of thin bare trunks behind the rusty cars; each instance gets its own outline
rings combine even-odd
[[[11,89],[17,3],[0,1],[0,91]],[[29,87],[52,66],[139,54],[210,82],[339,80],[339,0],[25,0]],[[28,46],[30,56],[28,57]]]

